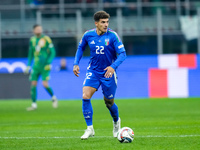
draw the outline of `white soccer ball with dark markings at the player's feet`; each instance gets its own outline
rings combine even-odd
[[[121,143],[131,143],[134,139],[134,132],[129,127],[123,127],[117,133],[117,139]]]

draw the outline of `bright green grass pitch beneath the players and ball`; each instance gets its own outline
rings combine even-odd
[[[86,129],[81,101],[0,100],[0,150],[199,150],[200,99],[118,99],[122,127],[133,129],[132,143],[112,137],[112,119],[103,100],[92,100],[95,136]]]

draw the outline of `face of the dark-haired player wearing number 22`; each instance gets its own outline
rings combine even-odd
[[[104,34],[105,32],[107,32],[109,19],[100,19],[98,22],[95,22],[95,25],[97,27],[97,34]]]

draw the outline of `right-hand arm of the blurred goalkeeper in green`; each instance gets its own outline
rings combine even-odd
[[[49,57],[47,58],[47,62],[46,62],[44,69],[45,70],[51,70],[51,63],[56,56],[56,51],[55,51],[55,48],[53,46],[53,43],[52,43],[52,40],[50,39],[50,37],[45,36],[45,39],[47,41],[47,46],[48,46],[48,50],[49,50],[48,51]]]

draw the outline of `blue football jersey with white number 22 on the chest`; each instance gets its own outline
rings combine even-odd
[[[88,69],[100,72],[104,72],[106,67],[115,62],[117,54],[125,52],[124,45],[115,31],[108,28],[106,33],[98,35],[95,28],[84,33],[78,46],[74,65],[79,64],[87,45],[90,47]],[[81,56],[79,57],[78,55]]]

